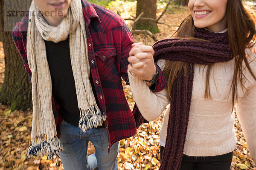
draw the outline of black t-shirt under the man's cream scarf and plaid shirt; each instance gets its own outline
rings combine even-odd
[[[78,126],[80,112],[70,60],[69,37],[67,40],[58,43],[51,41],[44,41],[44,43],[52,78],[52,95],[58,105],[60,105],[59,113],[66,122]],[[96,103],[99,106],[91,74],[90,84],[93,89]]]

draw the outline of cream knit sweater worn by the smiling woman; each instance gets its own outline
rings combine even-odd
[[[256,49],[256,45],[254,46]],[[247,58],[256,74],[256,51],[246,50]],[[165,60],[157,64],[163,70]],[[216,156],[233,151],[236,147],[234,114],[232,113],[231,82],[234,59],[213,65],[210,74],[210,94],[212,99],[204,98],[207,66],[195,65],[189,124],[183,153],[188,156]],[[238,87],[236,113],[241,123],[251,155],[256,159],[256,81],[247,69],[244,85],[247,91]],[[148,121],[157,119],[169,104],[167,90],[152,93],[145,81],[132,76],[129,81],[134,100]],[[169,108],[166,110],[160,129],[160,139],[166,142]]]

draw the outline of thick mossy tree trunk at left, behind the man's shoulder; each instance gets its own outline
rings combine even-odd
[[[26,110],[32,107],[31,83],[25,71],[20,54],[12,40],[12,27],[16,20],[7,22],[7,11],[27,11],[31,0],[0,0],[0,37],[5,53],[5,78],[0,87],[0,102],[9,104],[11,110]],[[18,6],[18,7],[17,7]],[[19,18],[22,16],[18,14]]]

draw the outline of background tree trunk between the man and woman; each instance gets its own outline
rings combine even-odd
[[[143,12],[143,18],[157,18],[157,0],[137,0],[137,10],[136,10],[136,17]],[[150,22],[150,21],[138,21],[136,25],[136,29],[147,29],[151,31],[153,34],[160,32],[157,27],[157,23]]]

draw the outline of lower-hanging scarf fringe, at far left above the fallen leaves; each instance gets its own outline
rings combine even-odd
[[[38,140],[38,142],[37,142]],[[36,136],[36,138],[31,139],[32,145],[28,150],[28,157],[38,156],[41,153],[41,156],[48,154],[47,159],[53,159],[53,156],[58,156],[63,151],[63,146],[57,136],[53,138],[47,138],[46,135]]]

